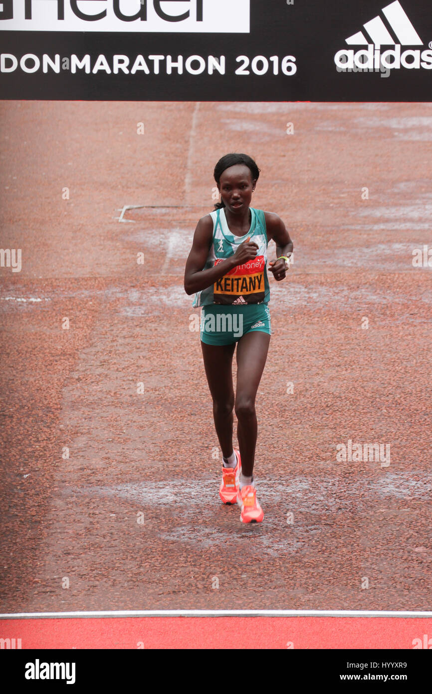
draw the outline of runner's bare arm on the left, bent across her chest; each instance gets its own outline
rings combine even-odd
[[[184,270],[184,291],[186,294],[196,294],[197,291],[211,287],[216,280],[226,275],[236,265],[253,260],[257,255],[258,246],[254,242],[250,242],[250,237],[248,237],[243,244],[240,244],[234,255],[216,266],[203,270],[209,255],[212,238],[213,219],[209,214],[206,214],[196,225],[191,252],[186,262]]]

